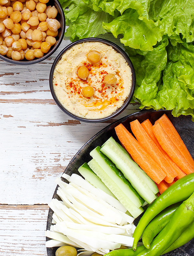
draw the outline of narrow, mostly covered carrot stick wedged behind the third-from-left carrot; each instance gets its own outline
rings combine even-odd
[[[143,123],[141,123],[142,127],[145,129],[146,133],[150,136],[150,138],[154,141],[156,146],[159,148],[159,150],[162,152],[164,157],[168,160],[169,164],[173,167],[173,169],[177,173],[177,178],[180,179],[184,177],[186,174],[175,164],[175,162],[168,156],[168,154],[164,151],[164,149],[160,146],[159,142],[156,139],[156,136],[153,133],[152,130],[152,123],[149,121],[149,119],[145,120]]]

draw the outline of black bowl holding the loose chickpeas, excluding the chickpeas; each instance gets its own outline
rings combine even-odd
[[[65,15],[64,15],[63,9],[58,0],[49,0],[49,2],[47,3],[47,6],[49,6],[49,5],[55,6],[56,9],[58,10],[56,19],[61,24],[60,29],[58,29],[58,36],[56,37],[56,40],[57,40],[56,43],[53,46],[51,46],[50,50],[46,54],[44,54],[41,58],[35,58],[32,61],[28,61],[26,59],[21,60],[21,61],[15,61],[15,60],[8,58],[6,55],[0,54],[0,58],[2,60],[10,62],[12,64],[22,64],[22,65],[35,64],[35,63],[38,63],[40,61],[47,59],[50,55],[52,55],[57,50],[61,41],[63,40],[63,36],[65,33]]]

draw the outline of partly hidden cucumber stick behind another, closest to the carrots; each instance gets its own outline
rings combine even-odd
[[[123,156],[125,156],[125,159],[127,159],[127,162],[130,162],[133,166],[134,169],[136,169],[136,172],[138,172],[142,179],[145,181],[145,183],[147,184],[147,186],[151,189],[151,191],[154,193],[154,194],[157,194],[159,191],[158,191],[158,188],[155,184],[155,182],[146,174],[146,172],[144,170],[142,170],[137,163],[134,162],[134,160],[130,157],[129,153],[124,149],[124,147],[122,147],[122,145],[120,145],[118,142],[116,142],[113,137],[110,137],[103,145],[102,145],[102,152],[104,150],[104,145],[108,142],[111,142],[114,147],[117,147],[117,149],[119,149]],[[110,145],[110,144],[109,144]],[[105,154],[105,153],[104,153]],[[105,154],[106,155],[106,154]],[[110,157],[109,157],[110,158]],[[110,158],[111,159],[111,158]],[[113,160],[112,160],[113,161]],[[113,161],[114,162],[114,161]],[[119,168],[117,166],[117,168]],[[120,169],[120,168],[119,168]],[[122,170],[121,170],[122,171]],[[127,178],[128,179],[128,178]],[[133,184],[133,182],[132,182]]]

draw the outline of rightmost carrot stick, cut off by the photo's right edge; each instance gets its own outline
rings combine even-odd
[[[170,140],[173,142],[173,144],[176,146],[176,148],[181,153],[181,155],[185,158],[185,160],[187,160],[189,165],[192,168],[194,168],[194,160],[191,157],[189,150],[187,149],[186,145],[182,141],[174,125],[168,119],[167,115],[164,114],[156,122],[158,122],[161,125],[161,127],[163,128],[165,133],[168,135]]]

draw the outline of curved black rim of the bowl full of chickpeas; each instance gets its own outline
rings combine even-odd
[[[59,0],[53,0],[53,1],[57,4],[57,6],[60,9],[60,16],[61,16],[62,22],[61,22],[61,35],[59,37],[57,44],[52,48],[52,50],[49,51],[47,54],[43,55],[41,58],[31,60],[31,61],[16,61],[16,60],[12,60],[8,57],[5,57],[5,55],[1,55],[1,54],[0,54],[0,59],[4,60],[6,62],[9,62],[11,64],[20,64],[20,65],[35,64],[35,63],[38,63],[38,62],[41,62],[41,61],[47,59],[48,57],[50,57],[50,55],[52,55],[59,48],[59,45],[60,45],[61,41],[63,40],[64,33],[65,33],[65,15],[64,15],[62,6],[59,3]]]

